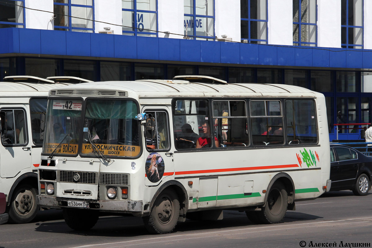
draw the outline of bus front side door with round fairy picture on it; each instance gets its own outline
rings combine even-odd
[[[145,185],[158,185],[163,178],[174,174],[173,152],[170,141],[169,108],[145,106]]]

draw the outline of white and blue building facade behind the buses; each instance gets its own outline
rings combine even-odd
[[[372,121],[368,13],[367,0],[1,0],[0,78],[292,84],[325,95],[332,140],[339,111]]]

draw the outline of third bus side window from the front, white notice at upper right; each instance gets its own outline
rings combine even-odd
[[[253,145],[282,145],[284,136],[280,101],[252,100],[249,106]]]

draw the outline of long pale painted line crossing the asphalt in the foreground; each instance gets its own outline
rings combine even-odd
[[[248,227],[248,228],[237,228],[237,229],[229,229],[229,230],[219,230],[219,231],[213,231],[213,232],[200,232],[200,233],[190,233],[190,234],[183,234],[183,235],[162,235],[160,237],[155,237],[155,238],[146,238],[146,239],[134,239],[134,240],[127,240],[127,241],[120,241],[120,242],[112,242],[112,243],[102,243],[102,244],[90,244],[90,245],[82,245],[82,246],[77,246],[77,247],[71,247],[71,248],[85,248],[85,247],[94,247],[94,246],[107,246],[107,245],[114,245],[114,244],[123,244],[126,243],[125,246],[131,246],[131,245],[139,245],[139,244],[128,244],[129,242],[140,242],[140,241],[148,241],[146,243],[141,243],[141,245],[144,244],[152,244],[156,242],[158,239],[166,239],[166,238],[176,238],[176,237],[185,237],[182,239],[177,239],[177,241],[180,240],[185,240],[185,239],[191,239],[187,238],[188,236],[198,236],[198,235],[210,235],[214,233],[221,233],[221,232],[233,232],[233,231],[245,231],[245,230],[259,230],[259,229],[264,229],[264,228],[283,228],[284,229],[294,229],[296,226],[301,226],[301,225],[312,225],[312,224],[323,224],[323,223],[331,223],[331,222],[343,222],[347,220],[360,220],[360,219],[367,219],[369,221],[372,221],[372,217],[362,217],[362,218],[350,218],[350,219],[341,219],[341,220],[327,220],[327,221],[319,221],[319,222],[310,222],[310,223],[298,223],[298,224],[289,224],[289,225],[265,225],[265,226],[259,226],[259,227]],[[258,232],[258,231],[256,231]],[[246,232],[244,232],[246,233]],[[241,233],[234,233],[234,234],[241,234]],[[203,236],[205,237],[205,236]],[[194,237],[195,238],[195,237]],[[167,241],[170,241],[169,239]],[[161,242],[161,241],[158,241]]]

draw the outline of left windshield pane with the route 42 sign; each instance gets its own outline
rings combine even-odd
[[[82,103],[76,99],[49,100],[44,153],[77,155]]]

